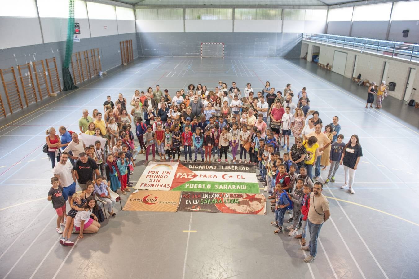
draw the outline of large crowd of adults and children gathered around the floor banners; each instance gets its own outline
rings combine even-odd
[[[192,148],[193,162],[197,162],[200,155],[200,163],[220,163],[222,157],[225,163],[230,163],[227,156],[231,147],[232,163],[255,164],[259,168],[259,181],[266,183],[264,191],[274,201],[273,211],[279,229],[282,227],[283,209],[294,203],[291,218],[297,220],[292,221],[290,230],[294,235],[298,228],[304,227],[304,223],[300,224],[301,213],[303,220],[305,216],[302,212],[304,203],[300,204],[298,215],[295,212],[299,208],[298,202],[294,200],[300,201],[301,198],[303,201],[305,197],[306,202],[308,198],[305,195],[310,191],[317,197],[316,192],[321,193],[323,187],[318,181],[321,171],[326,171],[330,166],[325,183],[334,182],[336,171],[342,164],[345,184],[341,188],[349,187],[354,194],[354,175],[362,156],[357,135],[352,135],[347,144],[343,143],[338,116],[334,116],[322,131],[323,121],[318,117],[318,111],[310,110],[306,88],[297,93],[295,102],[294,97],[290,84],[282,93],[271,87],[269,81],[256,94],[250,83],[241,90],[235,82],[228,88],[226,83],[220,81],[212,90],[208,90],[206,85],[198,84],[195,87],[190,84],[176,91],[173,97],[167,89],[161,91],[157,85],[155,90],[147,88],[146,93],[135,90],[129,103],[122,93],[119,93],[115,102],[111,101],[111,96],[107,96],[103,103],[103,116],[97,109],[93,110],[93,116],[89,116],[88,110],[84,109],[79,120],[80,134],[98,137],[95,145],[86,146],[77,132],[65,127],[59,127],[61,138],[53,127],[49,128],[46,142],[54,178],[48,196],[57,210],[57,232],[63,233],[60,242],[71,245],[69,232],[73,225],[80,231],[81,237],[83,232],[96,232],[100,228],[93,214],[96,205],[88,197],[95,202],[103,202],[109,214],[115,216],[115,198],[112,194],[116,191],[127,194],[132,186],[129,175],[134,170],[136,160],[133,156],[134,133],[140,148],[135,157],[144,154],[145,163],[148,162],[150,151],[153,160],[156,160],[158,153],[160,161],[173,162],[177,155],[177,161],[180,162],[181,148],[185,163],[192,162]],[[130,113],[127,109],[129,105],[132,107]],[[291,135],[294,144],[290,143]],[[99,138],[105,139],[106,144],[102,144]],[[299,180],[302,180],[300,188],[300,183],[297,183]],[[76,181],[85,195],[82,193],[79,197],[75,193]],[[317,182],[313,184],[313,181]],[[308,193],[303,191],[305,185],[310,186]],[[318,185],[319,189],[314,185]],[[284,191],[291,201],[287,207],[284,207]],[[68,214],[63,203],[67,199],[71,207]],[[328,210],[326,207],[323,209],[324,212]],[[320,212],[321,209],[316,205],[316,210]],[[79,219],[85,221],[82,230]],[[316,224],[314,220],[312,224]],[[60,227],[64,223],[65,230],[62,232]],[[310,230],[310,222],[306,223]],[[320,227],[317,226],[316,230],[320,230]],[[305,243],[305,230],[300,236]]]

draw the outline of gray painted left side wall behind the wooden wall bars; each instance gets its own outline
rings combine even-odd
[[[101,36],[93,38],[80,39],[80,42],[74,43],[73,53],[93,48],[99,48],[101,57],[102,71],[109,70],[121,65],[121,54],[119,52],[119,41],[132,39],[132,51],[134,58],[138,56],[137,42],[135,33],[119,34],[111,36]],[[0,50],[0,69],[15,67],[16,79],[18,80],[21,97],[23,91],[21,81],[18,78],[17,65],[23,65],[28,62],[44,60],[46,58],[55,57],[57,61],[57,70],[59,71],[60,81],[62,85],[62,60],[65,55],[65,41],[58,41],[47,44],[35,44],[30,46],[19,46]],[[45,63],[45,61],[44,61]],[[45,65],[46,67],[46,65]],[[70,65],[71,71],[71,65]],[[36,89],[37,90],[37,89]],[[9,113],[7,99],[4,94],[3,86],[0,87],[0,93],[5,105],[6,112]]]

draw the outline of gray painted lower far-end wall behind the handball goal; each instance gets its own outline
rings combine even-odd
[[[201,42],[223,42],[225,56],[300,57],[301,33],[137,33],[139,56],[197,56]]]

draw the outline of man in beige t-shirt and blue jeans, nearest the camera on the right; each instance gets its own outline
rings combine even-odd
[[[314,261],[317,254],[317,238],[323,223],[330,217],[329,202],[321,192],[323,184],[314,183],[313,192],[310,194],[310,208],[308,209],[308,232],[310,233],[310,243],[308,246],[301,247],[301,250],[310,251],[304,261],[310,263]]]

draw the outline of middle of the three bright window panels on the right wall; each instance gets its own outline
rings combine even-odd
[[[391,3],[356,6],[353,21],[388,21]]]

